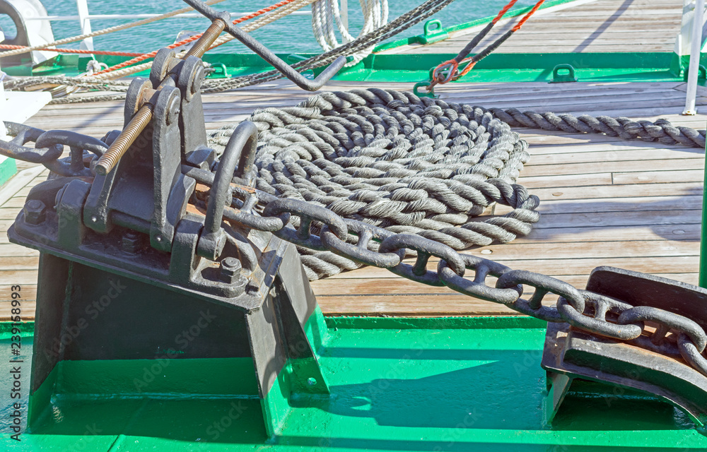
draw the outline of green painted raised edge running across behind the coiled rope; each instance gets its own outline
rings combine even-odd
[[[314,54],[300,54],[311,57]],[[431,69],[455,54],[372,54],[356,66],[344,69],[334,80],[369,82],[415,83],[428,81]],[[288,54],[279,54],[286,59]],[[117,64],[124,57],[98,57],[107,64]],[[204,61],[224,64],[233,77],[269,71],[255,54],[207,54]],[[88,59],[76,55],[62,55],[58,59],[35,68],[35,75],[63,74],[75,76],[83,71]],[[558,64],[571,64],[580,82],[665,82],[683,81],[686,60],[672,52],[619,53],[493,53],[481,60],[474,71],[457,82],[550,82],[552,70]],[[707,65],[707,54],[701,55],[701,64]],[[321,69],[316,69],[319,73]],[[312,71],[305,71],[305,75]],[[149,76],[147,71],[136,76]],[[700,80],[704,84],[704,80]]]

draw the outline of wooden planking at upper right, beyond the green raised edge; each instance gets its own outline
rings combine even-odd
[[[680,32],[682,5],[682,0],[577,0],[552,6],[537,11],[496,52],[672,52]],[[496,41],[521,18],[500,20],[474,53]],[[406,45],[381,53],[455,54],[483,27],[452,32],[448,40],[433,44]]]

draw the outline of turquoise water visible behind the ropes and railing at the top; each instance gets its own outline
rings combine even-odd
[[[277,0],[226,0],[214,5],[221,11],[248,12],[276,3]],[[443,26],[468,22],[495,14],[507,0],[457,0],[432,18],[442,21]],[[49,15],[73,16],[76,12],[75,0],[43,0]],[[390,20],[421,4],[423,0],[390,0]],[[519,0],[516,7],[534,4],[533,0]],[[92,14],[129,14],[129,13],[165,13],[183,8],[185,3],[179,0],[88,0],[88,11]],[[309,7],[303,8],[308,10]],[[92,20],[93,30],[111,27],[119,23],[134,20]],[[363,23],[361,6],[357,1],[349,0],[349,24],[351,30],[358,33]],[[180,30],[203,31],[209,25],[204,18],[167,19],[144,25],[140,28],[124,30],[93,38],[98,50],[121,50],[123,52],[149,52],[174,42]],[[11,35],[13,30],[8,16],[0,16],[0,26]],[[54,38],[60,39],[81,34],[78,20],[52,23]],[[423,32],[422,24],[405,30],[401,37],[419,35]],[[352,33],[353,34],[353,33]],[[274,52],[321,52],[321,48],[312,35],[311,16],[288,16],[252,32]],[[64,47],[78,48],[78,44],[66,44]],[[221,47],[228,52],[247,52],[240,43],[231,42]]]

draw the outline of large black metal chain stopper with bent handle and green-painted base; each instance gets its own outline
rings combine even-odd
[[[209,30],[230,24],[201,2],[192,4],[215,14]],[[218,32],[209,30],[195,46],[216,39]],[[308,81],[252,37],[229,30],[310,90],[345,64],[338,59]],[[262,219],[253,210],[257,127],[240,124],[216,161],[206,144],[203,80],[199,57],[161,49],[150,77],[135,78],[127,90],[124,131],[74,146],[129,147],[103,172],[95,159],[72,154],[71,174],[78,175],[35,186],[8,230],[11,242],[40,251],[30,428],[63,391],[56,379],[66,361],[252,359],[243,374],[230,376],[250,386],[226,396],[259,397],[270,435],[290,410],[283,400],[329,394],[315,354],[326,326],[295,246],[225,221],[232,207]],[[138,128],[131,124],[139,111],[150,114]],[[120,141],[123,134],[130,141]],[[164,350],[175,354],[165,357]],[[180,382],[163,377],[173,385],[165,390],[169,397]],[[116,391],[136,396],[132,388]]]

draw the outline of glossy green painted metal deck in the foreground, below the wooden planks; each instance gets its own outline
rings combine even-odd
[[[331,318],[327,326],[318,354],[332,396],[288,399],[275,387],[267,403],[285,408],[286,415],[273,437],[262,426],[263,408],[247,359],[175,358],[161,366],[151,360],[64,362],[54,375],[59,396],[20,442],[6,433],[12,413],[3,399],[0,447],[113,452],[707,448],[707,438],[670,405],[604,386],[573,385],[553,424],[545,424],[547,386],[539,366],[544,325],[535,319]],[[9,339],[2,338],[0,353],[8,356]],[[31,339],[23,339],[25,363],[29,347]],[[27,367],[22,375],[28,388]],[[135,379],[150,381],[138,392]],[[8,383],[4,372],[4,394]],[[25,392],[23,407],[27,402]]]

